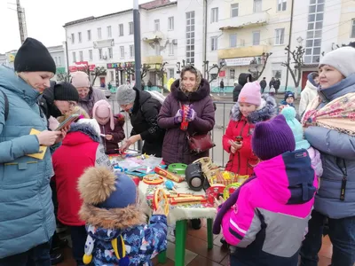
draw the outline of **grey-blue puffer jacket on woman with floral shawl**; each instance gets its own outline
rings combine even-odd
[[[319,90],[322,99],[319,108],[335,98],[355,92],[355,74],[342,82]],[[340,219],[355,215],[355,137],[339,133],[334,129],[309,127],[304,132],[305,138],[319,150],[323,164],[323,176],[316,195],[314,208],[330,218]],[[336,159],[344,159],[347,170],[345,200],[340,200],[343,173],[336,164]],[[339,161],[339,160],[338,160]]]

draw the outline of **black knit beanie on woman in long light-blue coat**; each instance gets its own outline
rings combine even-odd
[[[45,71],[56,73],[56,65],[50,52],[43,43],[33,38],[27,38],[22,43],[15,57],[16,72],[37,72]]]

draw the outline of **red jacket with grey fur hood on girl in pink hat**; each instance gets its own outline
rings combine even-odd
[[[225,166],[225,170],[235,174],[253,175],[253,168],[259,162],[256,155],[251,149],[251,136],[258,121],[267,121],[276,113],[276,102],[272,97],[263,98],[262,106],[255,112],[250,113],[248,117],[244,117],[240,110],[239,104],[236,103],[231,112],[231,121],[223,136],[223,148],[230,153],[229,160]],[[235,141],[235,137],[243,137],[243,145],[236,153],[231,153],[231,145],[229,141]]]

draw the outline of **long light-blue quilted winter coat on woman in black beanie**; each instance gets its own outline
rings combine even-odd
[[[0,66],[0,90],[9,101],[4,119],[4,95],[0,92],[0,258],[20,254],[48,242],[55,230],[50,179],[51,152],[43,160],[31,129],[43,131],[47,121],[36,101],[39,93],[12,69]]]

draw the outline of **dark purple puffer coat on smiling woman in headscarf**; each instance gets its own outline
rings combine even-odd
[[[192,154],[187,143],[187,133],[180,129],[180,123],[174,122],[174,116],[181,105],[191,104],[196,112],[196,118],[189,122],[188,133],[206,134],[215,125],[215,108],[209,96],[209,82],[201,79],[199,89],[186,95],[180,89],[180,81],[171,84],[170,94],[165,99],[158,116],[158,125],[166,129],[164,142],[162,145],[162,160],[166,164],[175,162],[190,164],[193,160],[209,156],[209,152]]]

